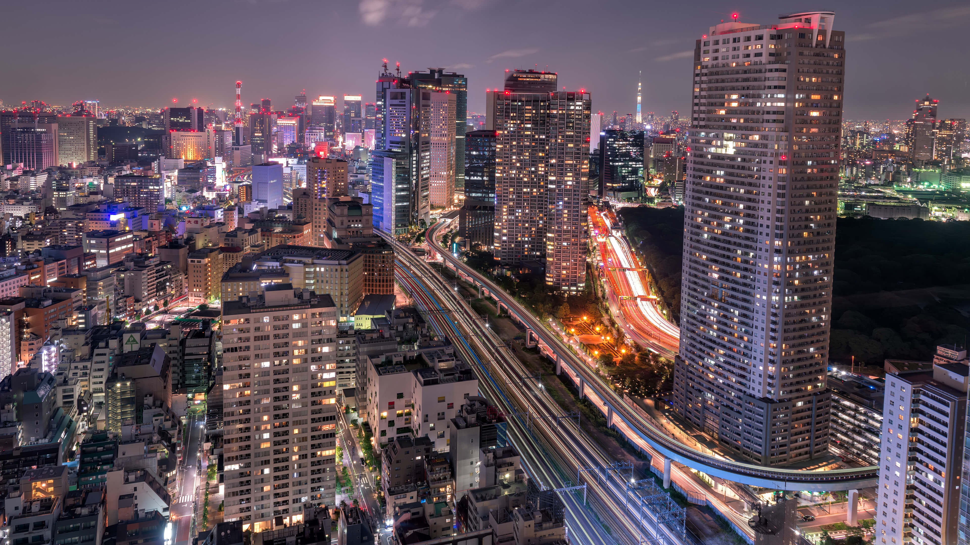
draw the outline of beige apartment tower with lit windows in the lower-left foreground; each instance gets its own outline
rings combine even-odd
[[[301,522],[310,506],[334,504],[337,320],[329,295],[290,284],[223,303],[227,522],[255,531],[282,528]],[[249,342],[250,330],[284,328],[306,331],[304,346],[276,342],[271,350],[271,343]],[[272,394],[250,388],[250,377],[264,375],[273,376]]]

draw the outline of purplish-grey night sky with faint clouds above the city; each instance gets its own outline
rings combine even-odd
[[[834,4],[834,6],[832,6]],[[404,72],[444,67],[469,77],[469,111],[505,69],[548,66],[594,111],[690,109],[694,41],[728,19],[776,22],[786,10],[835,7],[847,35],[845,116],[901,119],[930,93],[941,117],[970,118],[970,4],[853,0],[774,4],[640,0],[130,0],[4,4],[0,99],[164,107],[197,99],[293,104],[316,95],[373,101],[382,57]],[[11,24],[12,23],[12,24]],[[338,103],[339,105],[339,103]],[[683,116],[683,115],[682,115]]]

